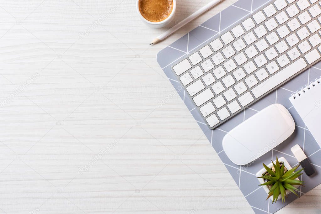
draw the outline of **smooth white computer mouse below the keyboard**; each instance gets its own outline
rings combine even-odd
[[[248,164],[293,133],[294,120],[281,104],[273,104],[239,124],[223,138],[223,149],[237,165]]]

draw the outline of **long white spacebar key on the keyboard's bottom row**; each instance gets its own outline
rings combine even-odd
[[[266,92],[270,91],[274,87],[280,85],[288,78],[292,77],[296,73],[298,73],[300,70],[308,67],[307,63],[304,61],[304,59],[301,57],[297,61],[293,62],[288,67],[284,68],[283,70],[279,71],[278,73],[274,74],[272,77],[266,79],[264,82],[262,82],[260,85],[253,88],[251,91],[253,95],[258,98],[262,95],[264,95]]]

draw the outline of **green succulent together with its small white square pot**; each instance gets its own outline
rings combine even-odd
[[[299,180],[300,173],[303,169],[295,171],[298,169],[298,166],[291,168],[285,158],[281,157],[265,165],[264,168],[256,173],[257,178],[259,179],[260,186],[263,186],[265,192],[268,194],[267,199],[273,195],[273,198],[270,198],[273,202],[282,198],[282,202],[285,201],[285,196],[289,193],[294,193],[296,196],[299,195],[295,191],[299,191],[297,187],[303,185],[303,181]],[[266,199],[266,200],[267,200]]]

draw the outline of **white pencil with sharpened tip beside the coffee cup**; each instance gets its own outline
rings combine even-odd
[[[221,2],[221,1],[222,0],[213,0],[210,3],[206,4],[204,7],[202,7],[201,9],[199,9],[198,11],[193,13],[192,15],[188,16],[186,19],[184,19],[183,21],[179,22],[177,25],[175,25],[171,29],[167,30],[166,32],[164,32],[160,36],[156,37],[152,41],[152,43],[150,43],[149,45],[153,45],[153,44],[159,43],[161,40],[165,39],[166,37],[168,37],[169,35],[171,35],[175,31],[177,31],[178,29],[180,29],[181,27],[186,25],[188,22],[192,21],[193,19],[195,19],[196,17],[200,16],[201,14],[206,12],[207,10],[211,9],[213,6],[215,6],[217,3]]]

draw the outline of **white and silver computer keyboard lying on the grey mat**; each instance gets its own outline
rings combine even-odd
[[[172,66],[211,129],[320,61],[320,6],[271,1]]]

